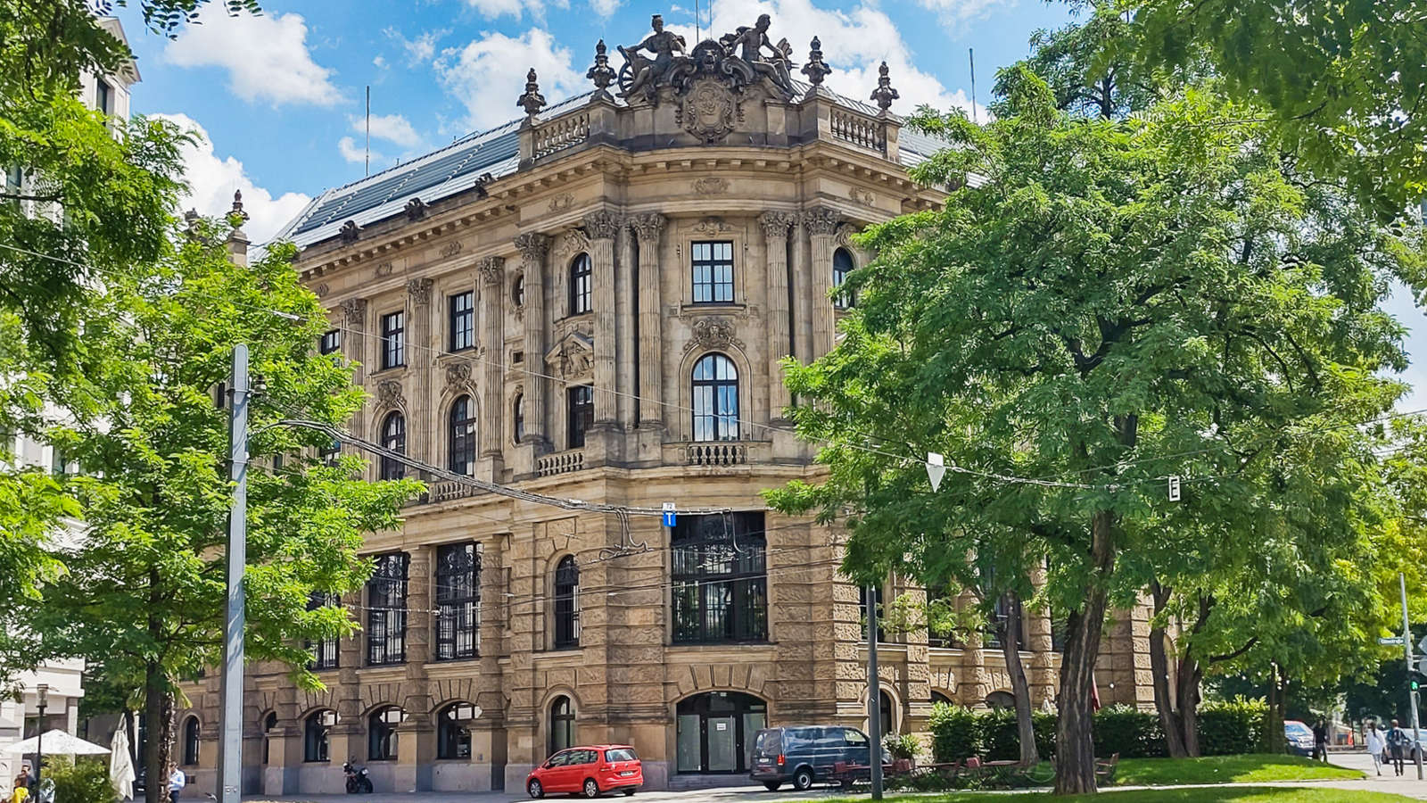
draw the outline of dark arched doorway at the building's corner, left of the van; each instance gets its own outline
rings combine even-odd
[[[768,724],[768,703],[742,692],[705,692],[679,702],[679,774],[746,773],[753,736]]]

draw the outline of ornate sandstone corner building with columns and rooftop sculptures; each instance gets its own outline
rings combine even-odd
[[[765,723],[865,726],[842,536],[759,492],[816,479],[779,360],[833,347],[852,301],[833,290],[869,259],[850,234],[945,197],[906,171],[938,143],[890,111],[885,64],[866,104],[822,86],[816,39],[795,66],[766,17],[688,50],[654,27],[618,73],[596,46],[589,93],[548,106],[532,70],[524,117],[330,190],[283,237],[331,310],[321,349],[371,393],[354,434],[450,474],[684,513],[665,527],[428,477],[341,600],[362,633],[314,644],[327,690],[250,670],[251,792],[338,792],[348,757],[378,792],[518,790],[552,750],[608,742],[678,786],[745,772]],[[882,593],[903,592],[922,594],[896,577]],[[1107,629],[1102,700],[1150,700],[1146,639],[1143,612]],[[935,700],[1009,692],[999,647],[886,642],[889,732],[925,730]],[[1037,704],[1052,643],[1027,617]],[[180,717],[200,787],[217,683]]]

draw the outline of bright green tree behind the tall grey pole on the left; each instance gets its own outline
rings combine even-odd
[[[64,480],[83,504],[84,537],[64,573],[24,612],[30,660],[83,656],[107,683],[141,697],[150,723],[146,766],[163,777],[177,683],[218,662],[225,610],[228,381],[233,346],[247,343],[265,390],[250,407],[247,657],[280,662],[317,686],[304,640],[351,634],[340,606],[308,610],[314,594],[342,594],[371,570],[362,536],[400,523],[411,480],[367,483],[362,460],[324,460],[331,437],[278,422],[341,426],[362,403],[351,366],[321,356],[328,326],[275,246],[251,266],[228,261],[228,226],[200,221],[151,270],[104,274],[104,314],[86,320],[103,350],[87,376],[93,416],[50,432],[81,473]],[[161,799],[150,784],[148,800]]]

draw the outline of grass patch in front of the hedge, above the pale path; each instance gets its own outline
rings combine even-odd
[[[1122,759],[1116,786],[1183,783],[1263,783],[1269,780],[1356,780],[1359,770],[1303,756],[1209,756],[1204,759]]]

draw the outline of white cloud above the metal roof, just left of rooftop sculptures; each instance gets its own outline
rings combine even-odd
[[[557,47],[544,29],[531,29],[518,39],[485,33],[465,47],[444,51],[435,67],[447,91],[465,104],[465,124],[479,130],[519,116],[515,99],[525,90],[531,67],[551,104],[586,89],[584,69],[571,67],[569,50]]]

